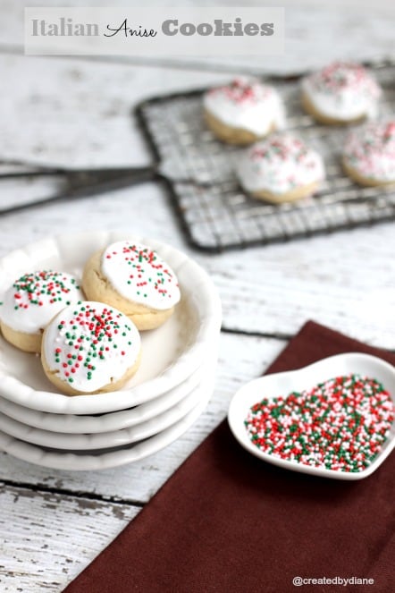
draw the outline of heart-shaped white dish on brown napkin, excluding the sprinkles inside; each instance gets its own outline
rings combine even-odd
[[[271,454],[262,452],[252,443],[248,436],[244,420],[247,418],[251,406],[265,399],[286,397],[291,392],[301,392],[310,386],[322,383],[332,377],[350,374],[363,375],[375,378],[384,385],[395,401],[395,368],[374,356],[349,352],[338,354],[327,359],[319,360],[308,367],[284,373],[265,375],[247,385],[243,385],[233,396],[228,412],[228,421],[233,435],[249,453],[273,463],[287,470],[314,474],[332,479],[363,479],[370,476],[388,457],[395,446],[395,422],[392,424],[390,435],[382,445],[380,452],[370,465],[361,471],[349,472],[340,470],[327,470],[304,465],[300,462],[284,460]]]

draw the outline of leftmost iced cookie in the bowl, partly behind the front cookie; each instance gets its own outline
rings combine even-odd
[[[43,270],[22,275],[0,306],[4,338],[25,352],[40,352],[46,325],[61,309],[83,299],[76,278]]]

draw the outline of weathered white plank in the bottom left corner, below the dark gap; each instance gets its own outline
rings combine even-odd
[[[0,506],[2,593],[63,590],[140,510],[1,482]]]

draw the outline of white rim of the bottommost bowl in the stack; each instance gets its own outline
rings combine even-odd
[[[201,385],[202,397],[198,405],[188,412],[170,428],[147,438],[138,444],[125,445],[120,450],[97,455],[77,453],[55,453],[30,445],[13,436],[0,431],[0,448],[5,452],[25,462],[35,463],[54,470],[90,471],[106,470],[108,468],[138,462],[147,456],[157,453],[180,438],[198,419],[205,410],[214,390],[214,381]]]

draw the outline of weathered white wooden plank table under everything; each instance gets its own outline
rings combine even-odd
[[[207,67],[196,61],[24,57],[21,6],[28,3],[1,4],[0,160],[87,167],[147,164],[130,106],[149,95],[226,80],[225,71],[242,69],[241,62],[211,61]],[[360,8],[356,13],[342,3],[340,12],[335,4],[320,11],[290,9],[287,55],[265,65],[256,62],[256,71],[290,72],[335,57],[391,54],[393,11],[384,5],[374,14]],[[4,203],[53,189],[43,181],[0,186]],[[103,227],[170,242],[212,275],[223,301],[214,396],[185,436],[130,466],[101,472],[46,470],[0,453],[2,593],[61,591],[224,418],[235,390],[261,374],[308,318],[395,349],[394,224],[208,256],[189,249],[164,192],[147,183],[114,191],[111,199],[103,194],[0,218],[0,257],[50,233]]]

